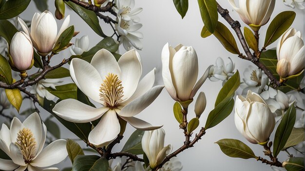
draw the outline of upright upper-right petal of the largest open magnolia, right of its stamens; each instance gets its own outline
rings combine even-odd
[[[142,64],[139,58],[139,53],[131,50],[124,53],[117,62],[122,72],[120,80],[124,87],[123,98],[130,98],[137,88],[142,75]]]

